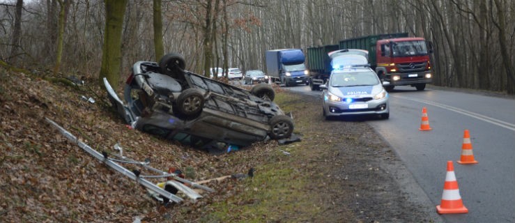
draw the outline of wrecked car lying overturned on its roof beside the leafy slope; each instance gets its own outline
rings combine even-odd
[[[251,91],[185,70],[180,54],[159,63],[139,61],[118,98],[104,79],[109,100],[132,128],[180,141],[194,148],[248,146],[256,141],[287,139],[293,118],[272,102],[268,84]]]

